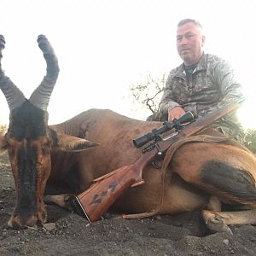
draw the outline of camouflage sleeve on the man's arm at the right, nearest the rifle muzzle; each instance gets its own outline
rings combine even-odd
[[[234,70],[228,62],[218,61],[213,68],[212,75],[221,91],[222,101],[219,102],[220,105],[244,96],[242,86],[238,83]]]

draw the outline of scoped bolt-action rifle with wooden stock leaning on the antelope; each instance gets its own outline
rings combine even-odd
[[[143,148],[142,156],[133,165],[122,166],[113,172],[94,179],[89,189],[74,196],[71,199],[74,211],[87,218],[90,222],[95,222],[108,211],[108,208],[113,205],[126,189],[145,183],[142,177],[143,170],[158,155],[165,154],[173,143],[177,143],[184,137],[195,135],[218,121],[218,119],[222,119],[226,114],[239,108],[243,101],[244,98],[241,97],[234,102],[228,102],[221,108],[201,117],[201,119],[195,120],[195,114],[192,112],[184,113],[179,119],[163,123],[163,127],[160,129],[154,129],[142,137],[137,137],[133,140],[133,144],[137,148],[152,140],[154,142]],[[183,125],[186,123],[189,123],[189,125]],[[160,134],[173,128],[175,131],[169,136],[160,137]]]

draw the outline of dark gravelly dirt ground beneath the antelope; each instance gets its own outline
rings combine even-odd
[[[256,226],[231,226],[233,236],[211,234],[200,212],[122,219],[107,213],[90,224],[74,212],[49,205],[44,227],[12,230],[14,179],[0,155],[0,255],[256,255]]]

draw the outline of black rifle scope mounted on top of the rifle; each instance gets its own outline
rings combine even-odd
[[[144,144],[152,141],[152,140],[158,140],[160,137],[160,134],[172,130],[172,128],[176,128],[177,130],[180,129],[182,124],[189,123],[195,119],[195,113],[192,111],[188,111],[183,114],[179,119],[173,119],[172,122],[164,122],[163,127],[160,129],[154,129],[151,132],[148,132],[148,134],[143,135],[141,137],[137,137],[134,140],[132,140],[133,145],[136,148],[142,147]]]

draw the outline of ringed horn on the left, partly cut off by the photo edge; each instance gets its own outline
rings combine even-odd
[[[20,107],[20,105],[26,101],[23,93],[15,86],[15,84],[5,76],[1,67],[2,60],[2,50],[5,46],[5,39],[3,35],[0,35],[0,88],[8,102],[9,110],[12,111],[15,108]]]

